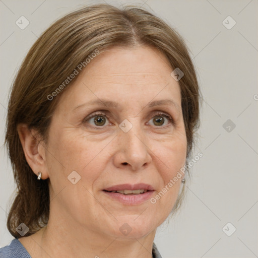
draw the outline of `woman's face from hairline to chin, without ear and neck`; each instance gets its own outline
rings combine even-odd
[[[171,72],[157,50],[113,48],[65,89],[45,152],[50,218],[127,238],[143,237],[166,219],[182,177],[169,182],[186,157],[180,87]],[[132,189],[149,191],[110,192]]]

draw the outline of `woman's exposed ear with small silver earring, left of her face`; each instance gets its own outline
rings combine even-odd
[[[25,158],[35,175],[42,173],[41,179],[48,178],[46,155],[43,141],[37,137],[35,129],[29,129],[27,124],[18,124],[18,135],[22,144]]]

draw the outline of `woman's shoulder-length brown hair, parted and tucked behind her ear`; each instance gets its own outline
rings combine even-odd
[[[44,227],[48,222],[50,202],[49,178],[37,180],[23,153],[17,125],[26,123],[29,128],[35,128],[47,143],[51,116],[62,92],[51,101],[47,96],[96,49],[104,51],[116,46],[138,45],[155,47],[165,54],[172,68],[184,73],[178,82],[187,138],[186,158],[191,156],[199,126],[200,92],[195,68],[180,35],[160,18],[137,7],[127,6],[120,10],[100,4],[74,11],[54,22],[38,38],[12,86],[5,144],[18,186],[7,220],[8,230],[14,237],[21,237],[16,227],[22,222],[30,229],[26,236]],[[183,185],[173,212],[183,200],[184,189]]]

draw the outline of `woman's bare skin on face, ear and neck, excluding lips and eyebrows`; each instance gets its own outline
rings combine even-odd
[[[156,49],[110,49],[97,55],[60,96],[47,145],[38,143],[36,132],[25,124],[18,126],[28,164],[51,182],[48,225],[19,238],[32,257],[152,257],[156,229],[171,212],[183,176],[155,204],[148,200],[128,206],[102,189],[143,182],[154,187],[154,197],[185,164],[180,86],[172,71]],[[76,108],[96,99],[116,101],[119,107]],[[147,106],[162,99],[178,107]],[[101,128],[94,118],[85,121],[100,110],[107,111]],[[174,124],[165,116],[164,123],[155,123],[159,111]],[[133,125],[127,133],[119,128],[124,119]],[[72,171],[81,176],[76,184],[67,178]],[[124,223],[132,228],[126,236],[119,230]]]

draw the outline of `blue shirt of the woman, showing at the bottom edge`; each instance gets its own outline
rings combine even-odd
[[[153,258],[162,258],[155,243],[153,243],[152,248]],[[15,238],[11,243],[5,247],[0,248],[1,258],[31,258],[28,251],[22,245],[22,243]]]

